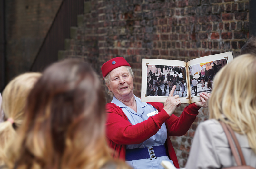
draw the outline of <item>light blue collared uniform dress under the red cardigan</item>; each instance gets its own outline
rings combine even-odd
[[[135,125],[137,123],[143,122],[144,120],[147,120],[148,119],[147,114],[157,110],[152,105],[147,104],[146,102],[141,102],[141,99],[136,97],[135,95],[134,97],[137,104],[137,112],[135,112],[130,107],[125,106],[122,102],[117,100],[115,96],[111,101],[111,103],[116,104],[116,106],[119,106],[123,110],[124,114],[127,116],[129,122],[132,125]],[[163,123],[161,129],[155,135],[151,136],[149,139],[147,139],[146,141],[140,144],[126,145],[126,149],[164,145],[167,137],[168,135],[167,135],[166,126],[165,126],[165,123]],[[152,160],[150,160],[149,158],[141,159],[141,160],[132,160],[132,161],[126,161],[126,163],[135,169],[145,169],[145,168],[146,169],[164,169],[160,165],[162,160],[169,160],[173,164],[172,160],[170,160],[168,156],[157,157],[156,159],[153,158]]]

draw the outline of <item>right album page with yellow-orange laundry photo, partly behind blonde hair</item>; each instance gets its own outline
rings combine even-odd
[[[189,75],[190,103],[201,101],[199,93],[211,93],[216,73],[233,60],[231,52],[205,56],[187,62]],[[192,85],[193,84],[193,85]],[[195,85],[196,84],[196,85]]]

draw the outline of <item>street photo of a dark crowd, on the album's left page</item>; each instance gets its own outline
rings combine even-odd
[[[185,67],[147,65],[147,96],[168,97],[174,85],[173,96],[188,97]]]

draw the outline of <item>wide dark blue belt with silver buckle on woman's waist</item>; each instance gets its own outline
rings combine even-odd
[[[150,152],[150,153],[149,153]],[[125,161],[141,160],[150,158],[151,160],[156,157],[167,156],[164,145],[128,149],[125,153]]]

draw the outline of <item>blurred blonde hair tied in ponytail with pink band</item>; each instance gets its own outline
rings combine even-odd
[[[14,78],[3,91],[4,122],[0,123],[0,159],[5,158],[8,144],[16,136],[15,129],[24,119],[26,99],[41,73],[24,73]],[[2,115],[1,115],[2,116]],[[7,119],[13,119],[13,123]]]

